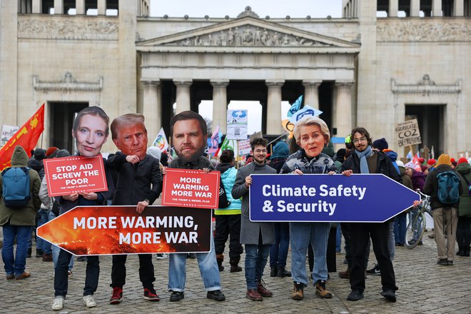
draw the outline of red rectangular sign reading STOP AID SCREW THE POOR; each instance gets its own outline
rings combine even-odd
[[[108,190],[101,155],[44,159],[44,176],[49,196]]]

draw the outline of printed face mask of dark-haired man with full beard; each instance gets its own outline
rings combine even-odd
[[[176,121],[173,125],[172,144],[183,162],[194,161],[202,156],[207,138],[197,119]]]

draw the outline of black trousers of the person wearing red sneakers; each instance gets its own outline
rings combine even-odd
[[[143,288],[153,288],[156,278],[153,274],[152,254],[138,254],[139,257],[139,280]],[[113,255],[113,266],[111,268],[111,288],[123,287],[126,283],[126,259],[128,255]]]

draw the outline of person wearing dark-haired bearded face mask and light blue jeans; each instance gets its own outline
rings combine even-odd
[[[170,121],[170,137],[178,158],[174,159],[168,168],[199,169],[211,171],[214,169],[208,158],[203,156],[208,132],[206,121],[198,113],[183,111],[176,114]],[[166,168],[162,173],[165,175]],[[186,253],[173,253],[170,255],[168,267],[168,290],[171,302],[179,301],[185,297],[186,282]],[[206,298],[223,301],[226,297],[221,292],[221,278],[211,239],[211,250],[207,253],[196,253],[198,267],[206,288]]]

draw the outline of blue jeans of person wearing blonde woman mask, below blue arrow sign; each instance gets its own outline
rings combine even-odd
[[[327,242],[330,223],[290,223],[291,274],[295,283],[308,285],[306,254],[309,242],[314,250],[314,283],[327,280]]]

